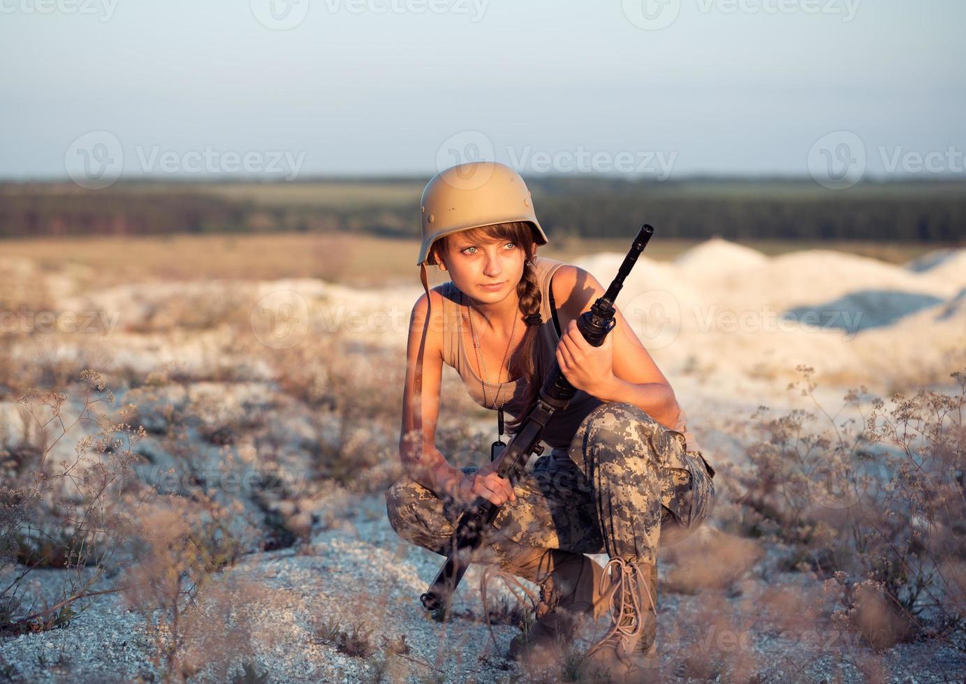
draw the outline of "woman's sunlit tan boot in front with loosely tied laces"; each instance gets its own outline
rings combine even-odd
[[[600,594],[611,609],[611,628],[587,651],[582,674],[591,681],[657,680],[657,565],[615,556],[604,568]]]

